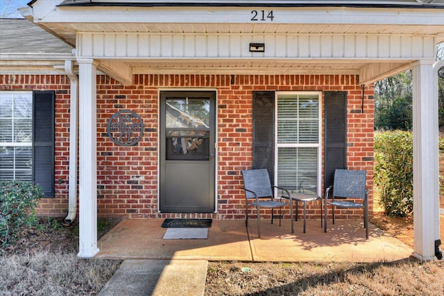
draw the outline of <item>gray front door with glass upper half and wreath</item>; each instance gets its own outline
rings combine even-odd
[[[214,92],[160,92],[160,211],[214,211]]]

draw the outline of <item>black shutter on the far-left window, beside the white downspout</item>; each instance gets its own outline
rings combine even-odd
[[[54,101],[53,91],[33,92],[33,181],[45,198],[54,197]]]

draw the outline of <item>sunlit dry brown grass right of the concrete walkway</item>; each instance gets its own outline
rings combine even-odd
[[[444,261],[210,262],[205,295],[444,295],[443,278]]]

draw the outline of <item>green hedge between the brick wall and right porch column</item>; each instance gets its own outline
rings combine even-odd
[[[413,211],[413,135],[396,130],[375,133],[375,184],[387,216]]]

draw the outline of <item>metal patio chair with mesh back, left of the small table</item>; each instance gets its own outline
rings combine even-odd
[[[241,171],[244,180],[245,193],[245,225],[248,227],[248,206],[255,207],[257,210],[257,236],[261,237],[260,209],[271,208],[271,224],[273,224],[274,208],[280,208],[279,226],[281,225],[282,207],[290,208],[291,233],[294,233],[293,227],[293,202],[287,189],[271,185],[270,177],[266,169]],[[290,197],[282,201],[282,198],[275,199],[273,189],[281,189]]]

